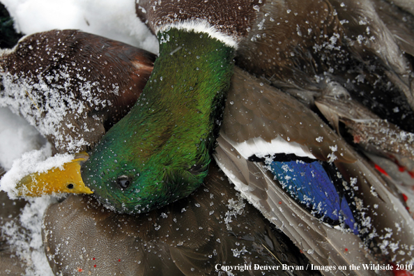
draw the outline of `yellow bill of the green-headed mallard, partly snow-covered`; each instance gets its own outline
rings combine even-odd
[[[93,194],[82,181],[80,168],[88,160],[87,153],[80,153],[75,159],[60,167],[49,169],[45,173],[33,173],[24,176],[16,185],[17,197],[40,197],[44,194]]]

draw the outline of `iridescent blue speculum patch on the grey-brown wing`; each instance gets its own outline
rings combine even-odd
[[[358,235],[357,224],[346,198],[337,191],[319,161],[273,161],[268,166],[283,189],[316,217],[343,222]]]

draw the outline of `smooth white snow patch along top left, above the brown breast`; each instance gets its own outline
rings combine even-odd
[[[17,31],[31,34],[51,29],[80,29],[158,52],[158,40],[135,14],[130,0],[2,0]]]

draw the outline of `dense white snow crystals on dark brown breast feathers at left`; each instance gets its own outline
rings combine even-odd
[[[78,76],[80,77],[80,76]],[[51,79],[60,79],[63,84],[50,84]],[[90,125],[68,125],[65,118],[86,116],[91,108],[105,108],[112,105],[109,100],[100,100],[98,84],[77,82],[70,77],[68,68],[56,71],[56,75],[41,77],[17,77],[6,73],[3,75],[4,89],[1,91],[0,106],[9,107],[15,114],[20,114],[40,133],[46,137],[55,137],[55,147],[71,153],[90,146],[81,133],[93,132]],[[80,95],[72,93],[74,86]],[[115,86],[112,93],[117,93]],[[79,98],[78,98],[79,97]],[[43,99],[47,99],[46,102]],[[40,105],[45,102],[45,105]],[[101,118],[94,118],[97,122]],[[75,135],[74,135],[75,133]]]

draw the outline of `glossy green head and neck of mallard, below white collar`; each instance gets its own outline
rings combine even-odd
[[[206,33],[160,33],[160,56],[131,112],[82,166],[95,196],[122,213],[187,197],[207,175],[233,72],[233,49]]]

